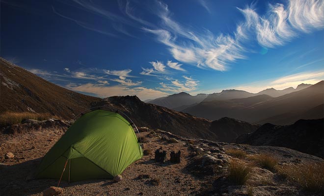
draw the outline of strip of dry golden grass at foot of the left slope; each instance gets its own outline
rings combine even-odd
[[[0,114],[0,125],[10,125],[21,123],[24,119],[34,119],[38,121],[47,120],[50,118],[61,119],[49,113],[32,113],[32,112],[4,112]]]

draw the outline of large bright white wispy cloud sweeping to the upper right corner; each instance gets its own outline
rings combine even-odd
[[[253,5],[238,8],[245,21],[237,25],[232,35],[218,36],[208,30],[196,32],[180,25],[171,18],[166,4],[161,1],[157,4],[156,15],[160,17],[162,26],[142,29],[155,34],[178,61],[218,71],[226,71],[229,64],[253,52],[248,46],[252,41],[263,47],[275,48],[289,42],[300,32],[324,27],[322,0],[290,0],[286,7],[281,3],[269,4],[265,15],[259,15]]]

